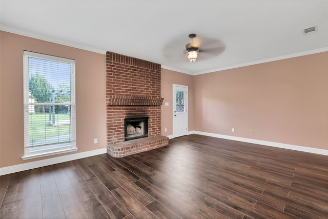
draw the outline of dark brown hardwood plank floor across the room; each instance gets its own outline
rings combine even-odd
[[[328,156],[188,135],[1,176],[1,218],[328,218]]]

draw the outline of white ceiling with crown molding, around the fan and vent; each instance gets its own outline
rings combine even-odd
[[[328,51],[328,1],[1,0],[0,9],[1,30],[192,75]],[[220,50],[189,62],[190,33],[213,42],[200,49]]]

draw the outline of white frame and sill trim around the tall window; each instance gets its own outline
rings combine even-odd
[[[75,61],[73,59],[40,54],[35,52],[24,51],[24,156],[22,156],[22,160],[28,160],[31,158],[50,156],[55,154],[67,153],[77,151],[76,147],[76,105],[75,105]],[[29,124],[29,91],[27,90],[29,86],[29,73],[28,73],[28,57],[36,57],[36,58],[44,58],[49,59],[50,61],[59,61],[66,62],[71,64],[71,144],[66,147],[60,148],[51,148],[45,150],[39,150],[30,152],[30,148],[26,147],[29,144],[29,131],[26,130],[25,124]]]

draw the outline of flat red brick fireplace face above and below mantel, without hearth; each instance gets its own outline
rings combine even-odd
[[[106,96],[160,97],[160,64],[106,53]],[[149,117],[148,136],[160,135],[160,105],[107,105],[107,143],[124,142],[124,118]]]

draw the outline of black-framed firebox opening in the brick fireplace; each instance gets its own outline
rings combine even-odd
[[[141,137],[148,137],[148,118],[125,118],[124,119],[124,141]]]

